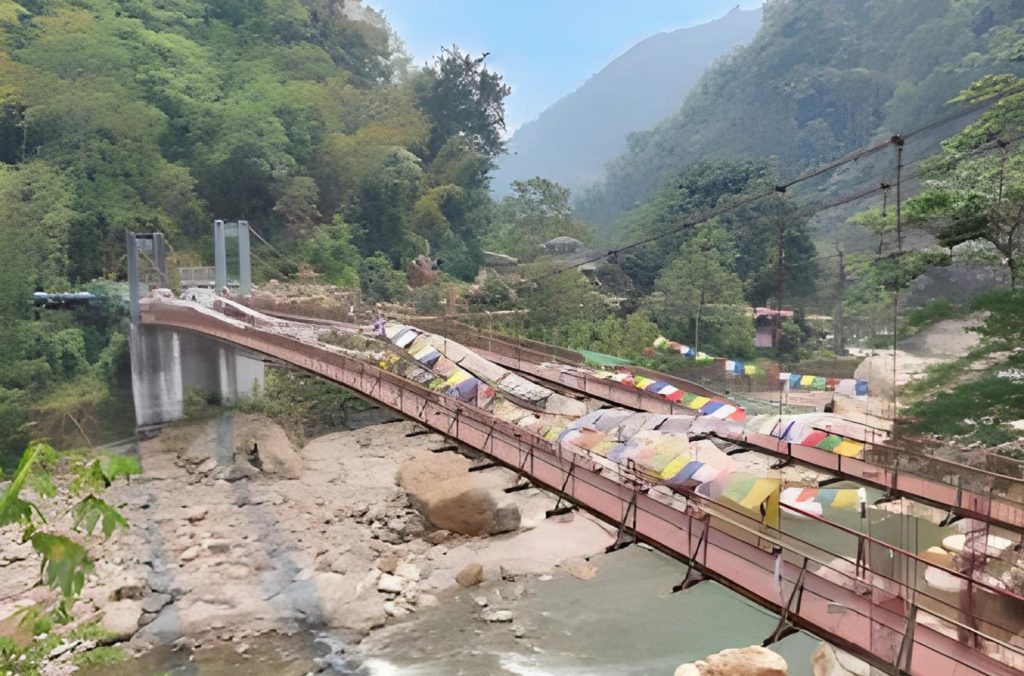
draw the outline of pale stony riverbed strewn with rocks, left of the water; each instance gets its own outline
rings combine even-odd
[[[506,493],[514,473],[470,472],[477,461],[408,422],[297,451],[278,425],[227,414],[165,428],[139,455],[143,475],[105,496],[132,527],[93,548],[75,607],[135,652],[309,629],[351,646],[481,583],[511,597],[524,576],[590,575],[583,557],[613,538],[579,512],[545,519],[550,495]],[[47,593],[31,552],[6,542],[0,618]]]

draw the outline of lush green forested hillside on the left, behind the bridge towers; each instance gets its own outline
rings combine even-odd
[[[291,258],[263,280],[428,251],[472,279],[509,89],[458,48],[408,60],[357,0],[0,0],[0,446],[117,389],[117,312],[33,321],[31,294],[124,279],[125,230],[209,264],[212,219],[247,218]]]

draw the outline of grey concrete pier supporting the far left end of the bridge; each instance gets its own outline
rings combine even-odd
[[[186,331],[136,326],[131,331],[132,394],[138,427],[180,420],[199,389],[232,404],[263,388],[263,362]]]

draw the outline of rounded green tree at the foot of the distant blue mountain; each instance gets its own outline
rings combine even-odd
[[[512,181],[511,194],[495,208],[486,246],[526,257],[555,237],[591,239],[590,227],[572,213],[569,189],[540,176]]]

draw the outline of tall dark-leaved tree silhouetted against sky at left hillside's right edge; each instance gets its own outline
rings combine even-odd
[[[487,54],[474,57],[458,45],[441,49],[434,62],[413,81],[420,108],[433,122],[428,158],[452,138],[466,138],[488,160],[505,150],[505,97],[512,93],[498,73],[487,70]]]

